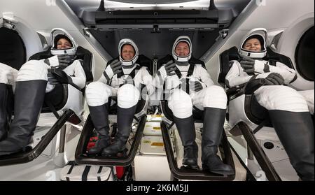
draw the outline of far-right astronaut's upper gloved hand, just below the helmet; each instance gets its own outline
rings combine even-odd
[[[250,57],[243,57],[239,63],[241,64],[241,68],[243,68],[244,72],[248,73],[248,75],[269,72],[268,63],[264,63],[260,60],[251,59]]]

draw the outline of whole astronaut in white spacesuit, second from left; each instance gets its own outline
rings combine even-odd
[[[113,60],[99,80],[87,85],[85,94],[90,116],[98,133],[98,140],[88,154],[104,157],[116,156],[125,150],[130,136],[132,121],[141,96],[141,84],[146,86],[148,95],[153,94],[153,78],[148,69],[137,64],[139,50],[129,38],[118,44],[119,59]],[[114,142],[109,136],[109,97],[117,96],[117,125]]]

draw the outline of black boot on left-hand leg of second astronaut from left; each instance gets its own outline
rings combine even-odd
[[[98,133],[98,140],[88,154],[101,154],[102,150],[109,146],[109,113],[107,111],[107,103],[102,106],[89,106],[90,115],[95,130]]]

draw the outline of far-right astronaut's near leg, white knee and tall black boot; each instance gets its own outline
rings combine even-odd
[[[269,110],[276,134],[297,175],[302,180],[314,181],[314,124],[307,101],[286,86],[260,87],[255,96]]]

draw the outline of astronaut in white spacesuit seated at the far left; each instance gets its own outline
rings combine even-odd
[[[52,29],[51,38],[52,57],[30,60],[23,64],[19,71],[0,64],[1,86],[13,85],[15,94],[14,118],[10,129],[6,129],[6,106],[1,106],[0,155],[24,150],[31,142],[45,93],[52,91],[57,83],[52,71],[64,74],[69,83],[73,82],[80,89],[85,87],[86,77],[81,64],[83,62],[74,60],[77,45],[73,38],[63,29]],[[7,101],[6,89],[3,87],[1,90],[1,102]]]

